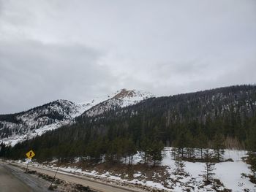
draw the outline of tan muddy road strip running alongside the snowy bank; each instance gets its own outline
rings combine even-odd
[[[18,166],[23,166],[22,164],[16,164]],[[48,174],[50,176],[54,176],[55,171],[50,169],[42,169],[39,167],[29,166],[29,169],[40,172],[42,174]],[[91,189],[99,192],[138,192],[143,191],[140,189],[135,188],[126,188],[118,185],[111,185],[110,183],[103,183],[99,181],[91,180],[87,177],[73,175],[73,174],[66,174],[62,172],[58,172],[56,174],[56,178],[59,178],[60,180],[65,180],[70,183],[76,183],[84,186],[89,186]]]

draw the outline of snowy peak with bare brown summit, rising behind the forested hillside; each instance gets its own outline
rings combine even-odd
[[[91,107],[90,110],[83,113],[83,116],[92,117],[101,115],[103,112],[109,110],[116,110],[116,108],[138,104],[138,102],[151,97],[154,97],[154,95],[146,91],[121,89],[121,91],[117,91],[112,98]]]

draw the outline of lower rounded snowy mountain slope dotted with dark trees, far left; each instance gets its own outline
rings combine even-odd
[[[15,145],[50,129],[71,123],[83,108],[67,100],[57,100],[26,112],[0,116],[0,142]]]

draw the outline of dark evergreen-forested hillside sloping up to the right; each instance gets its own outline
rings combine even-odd
[[[118,161],[136,150],[160,159],[164,145],[235,147],[256,150],[256,86],[239,85],[196,93],[146,99],[49,131],[6,148],[5,155],[23,157],[33,148],[38,160],[72,160],[77,156]]]

